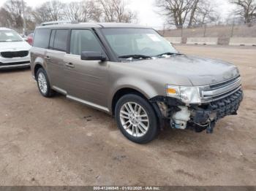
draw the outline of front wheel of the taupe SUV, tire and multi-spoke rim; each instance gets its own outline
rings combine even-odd
[[[127,94],[121,97],[116,104],[115,114],[118,128],[130,141],[146,144],[159,132],[154,109],[139,95]]]

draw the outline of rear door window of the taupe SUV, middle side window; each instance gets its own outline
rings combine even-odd
[[[68,30],[56,30],[53,49],[66,52],[68,35],[69,35]]]

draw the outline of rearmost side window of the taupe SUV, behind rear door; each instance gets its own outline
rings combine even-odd
[[[37,29],[34,35],[34,47],[48,48],[50,29]]]

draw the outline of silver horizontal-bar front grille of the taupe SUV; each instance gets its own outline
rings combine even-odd
[[[217,85],[209,85],[200,89],[200,96],[203,103],[216,101],[225,98],[241,89],[241,77],[219,83]]]

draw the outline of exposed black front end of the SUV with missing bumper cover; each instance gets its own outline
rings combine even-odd
[[[218,120],[237,114],[242,100],[243,91],[239,89],[225,98],[201,105],[187,106],[176,98],[164,96],[152,98],[151,103],[162,127],[168,122],[171,128],[192,129],[196,132],[207,130],[207,133],[213,133]]]

